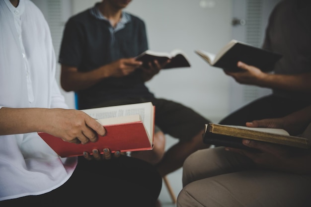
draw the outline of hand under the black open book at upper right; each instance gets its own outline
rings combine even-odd
[[[265,79],[266,73],[262,72],[260,69],[246,65],[242,62],[237,63],[237,67],[243,69],[243,71],[238,72],[230,72],[228,70],[224,70],[227,75],[232,76],[236,82],[241,84],[251,84],[251,85],[259,85],[261,80]]]

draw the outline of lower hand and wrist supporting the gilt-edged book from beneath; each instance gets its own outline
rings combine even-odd
[[[250,158],[261,169],[280,170],[298,174],[311,173],[311,150],[248,139],[243,139],[242,143],[246,146],[259,149],[261,152],[251,152],[249,150],[230,147],[226,147],[226,150]]]

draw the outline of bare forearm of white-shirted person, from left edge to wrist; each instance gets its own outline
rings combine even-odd
[[[39,132],[48,121],[44,108],[6,108],[0,109],[0,135]]]

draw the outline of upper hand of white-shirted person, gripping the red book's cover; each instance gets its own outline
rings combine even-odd
[[[74,109],[47,109],[41,122],[47,132],[64,141],[85,144],[97,141],[97,134],[104,136],[104,127],[86,113]]]

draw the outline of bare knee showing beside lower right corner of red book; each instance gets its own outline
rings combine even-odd
[[[158,163],[162,159],[164,154],[165,135],[161,131],[156,132],[154,140],[155,145],[152,150],[131,152],[131,157],[145,160],[153,165]]]

